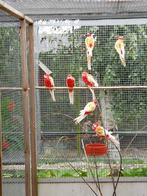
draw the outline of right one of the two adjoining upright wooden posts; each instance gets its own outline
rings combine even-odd
[[[30,129],[31,129],[31,174],[32,195],[38,195],[36,159],[36,118],[35,118],[35,68],[34,68],[34,26],[29,25],[29,82],[30,82]]]

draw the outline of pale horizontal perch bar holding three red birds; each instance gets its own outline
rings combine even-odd
[[[45,86],[36,86],[36,89],[46,89]],[[68,87],[65,87],[65,86],[55,86],[54,89],[68,89]],[[74,89],[89,89],[88,87],[85,87],[85,86],[76,86],[74,87]],[[100,89],[108,89],[108,90],[111,90],[111,89],[147,89],[147,86],[99,86],[99,87],[92,87],[92,89],[97,89],[97,90],[100,90]]]

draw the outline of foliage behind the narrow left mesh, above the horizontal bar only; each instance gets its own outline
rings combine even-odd
[[[19,28],[0,27],[0,85],[18,86],[21,81]]]

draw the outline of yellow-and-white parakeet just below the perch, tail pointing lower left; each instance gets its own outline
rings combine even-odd
[[[94,112],[97,106],[97,101],[93,100],[91,102],[88,102],[83,110],[80,111],[80,114],[77,118],[74,119],[75,123],[80,123],[86,116]]]

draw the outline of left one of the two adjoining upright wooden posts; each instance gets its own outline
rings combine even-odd
[[[30,171],[30,126],[29,126],[29,93],[27,70],[27,45],[26,45],[26,21],[21,20],[21,61],[22,61],[22,104],[24,122],[24,148],[25,148],[25,195],[31,196],[31,171]]]

